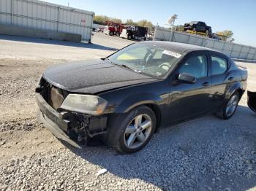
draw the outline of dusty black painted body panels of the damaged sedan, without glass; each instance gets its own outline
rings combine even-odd
[[[114,66],[107,60],[80,61],[48,69],[43,74],[43,81],[51,87],[58,87],[68,93],[94,94],[108,101],[102,117],[94,119],[88,114],[59,109],[60,118],[68,121],[68,125],[78,123],[78,127],[88,121],[87,135],[94,136],[105,133],[108,120],[103,120],[104,128],[91,132],[90,126],[102,124],[108,115],[125,114],[136,106],[146,104],[157,116],[157,128],[182,120],[189,120],[202,114],[217,112],[226,103],[230,95],[238,91],[243,95],[246,89],[247,71],[241,69],[227,55],[203,47],[170,42],[142,42],[161,44],[166,49],[181,52],[183,55],[165,77],[157,79],[146,74],[139,74],[127,68]],[[206,55],[208,74],[197,79],[193,84],[177,81],[181,63],[195,54]],[[218,55],[228,62],[224,74],[211,75],[210,55]],[[42,80],[41,80],[42,81]],[[37,88],[37,96],[42,96],[43,84]],[[39,107],[42,103],[37,101]],[[42,111],[43,109],[41,109]],[[58,109],[57,109],[58,111]],[[44,112],[44,111],[42,111]],[[46,115],[49,115],[46,112]],[[67,117],[67,118],[65,118]],[[66,130],[66,133],[69,133]]]

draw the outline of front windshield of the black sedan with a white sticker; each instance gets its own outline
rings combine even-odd
[[[138,73],[162,77],[173,68],[180,57],[180,52],[167,50],[165,47],[137,43],[116,52],[108,60]]]

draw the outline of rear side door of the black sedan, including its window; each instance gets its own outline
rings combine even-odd
[[[232,71],[229,71],[230,63],[225,56],[218,52],[210,53],[211,94],[213,95],[214,109],[222,107],[225,101],[225,93],[235,81]]]

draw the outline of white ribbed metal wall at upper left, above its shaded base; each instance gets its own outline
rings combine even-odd
[[[37,0],[0,0],[0,23],[80,34],[91,39],[94,12]]]

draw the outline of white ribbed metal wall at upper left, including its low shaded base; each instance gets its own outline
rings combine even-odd
[[[0,34],[91,42],[94,12],[37,0],[0,0]]]

